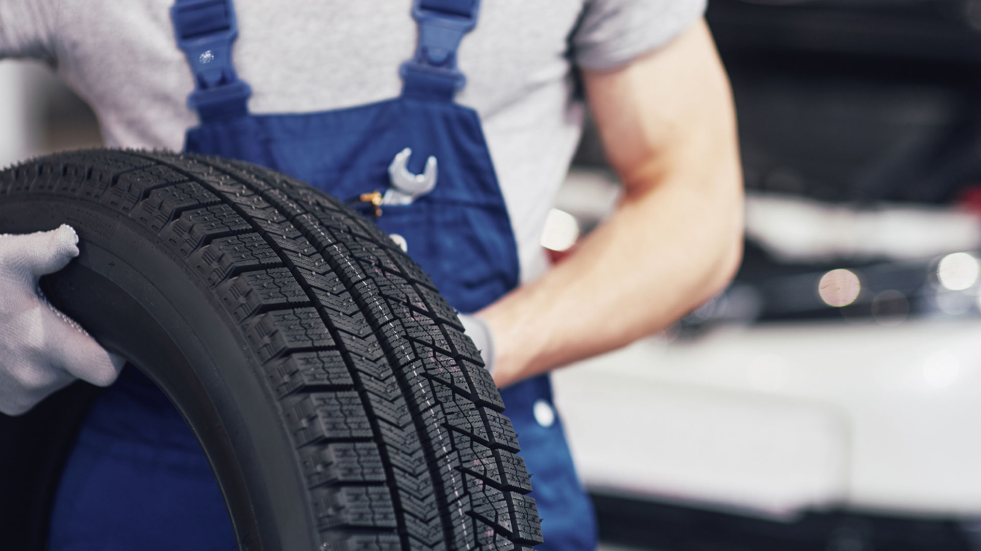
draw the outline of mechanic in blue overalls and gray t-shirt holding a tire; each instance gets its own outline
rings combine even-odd
[[[430,221],[427,239],[455,239],[489,282],[463,284],[426,246],[405,244],[471,315],[534,475],[540,548],[594,549],[561,424],[533,409],[550,408],[549,370],[668,326],[739,262],[735,116],[703,0],[178,0],[171,13],[173,3],[4,0],[0,56],[55,67],[110,146],[236,157],[341,199],[359,171],[390,162],[383,211],[426,201],[434,182],[472,198],[483,214],[453,220],[477,222]],[[539,238],[580,136],[581,88],[624,194],[546,271]],[[76,241],[67,226],[0,237],[6,413],[74,377],[106,385],[119,373],[37,298],[37,277],[67,264]],[[83,422],[50,548],[234,548],[193,435],[131,371]]]

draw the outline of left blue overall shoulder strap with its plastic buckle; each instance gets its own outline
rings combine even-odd
[[[202,123],[247,115],[252,89],[232,67],[232,42],[238,36],[232,0],[177,0],[171,20],[194,75],[187,105]]]

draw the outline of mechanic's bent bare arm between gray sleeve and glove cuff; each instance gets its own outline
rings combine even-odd
[[[670,325],[739,264],[735,113],[707,26],[585,81],[624,198],[554,270],[480,313],[495,336],[498,386]]]

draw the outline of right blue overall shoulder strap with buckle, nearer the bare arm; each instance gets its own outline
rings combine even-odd
[[[477,25],[480,0],[414,0],[419,43],[402,64],[402,94],[452,101],[466,77],[456,67],[460,40]]]

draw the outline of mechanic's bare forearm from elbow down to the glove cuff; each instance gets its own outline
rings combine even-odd
[[[575,254],[485,310],[497,384],[624,346],[718,292],[742,243],[739,187],[719,187],[725,196],[679,182],[628,199]]]

